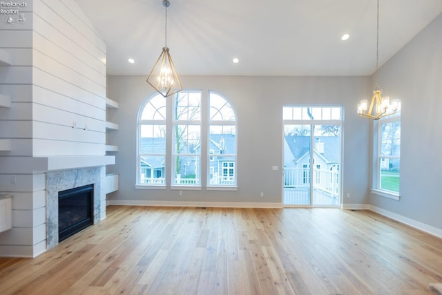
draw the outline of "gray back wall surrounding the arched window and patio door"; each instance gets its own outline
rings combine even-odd
[[[343,195],[347,204],[367,204],[369,182],[369,120],[356,115],[356,105],[372,93],[369,77],[182,77],[185,89],[211,90],[227,97],[238,116],[238,191],[178,191],[135,189],[137,112],[153,88],[142,76],[108,77],[108,97],[119,102],[109,121],[119,130],[108,135],[117,144],[119,191],[108,200],[144,202],[247,202],[282,200],[282,106],[341,104],[345,110]],[[273,171],[272,166],[279,166]],[[264,198],[260,192],[264,192]],[[350,198],[347,198],[347,193]]]

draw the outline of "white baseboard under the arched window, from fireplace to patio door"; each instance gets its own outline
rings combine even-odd
[[[150,200],[108,200],[108,205],[164,206],[164,207],[215,207],[215,208],[282,208],[279,202],[175,202]]]

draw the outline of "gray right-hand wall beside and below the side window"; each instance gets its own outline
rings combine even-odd
[[[442,229],[442,15],[380,72],[383,94],[401,97],[401,200],[370,204]]]

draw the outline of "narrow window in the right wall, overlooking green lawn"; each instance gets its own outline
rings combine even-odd
[[[374,193],[398,200],[401,175],[401,117],[378,120]]]

